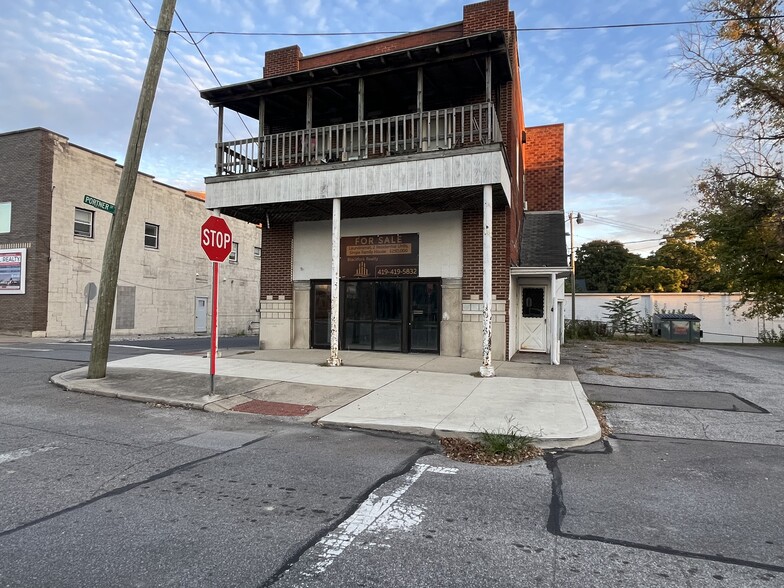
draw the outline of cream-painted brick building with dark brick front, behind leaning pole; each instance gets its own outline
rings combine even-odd
[[[85,288],[100,283],[112,215],[85,197],[114,202],[121,171],[114,159],[46,129],[0,134],[0,332],[81,337],[86,328],[90,336],[95,300],[88,312]],[[203,198],[139,174],[113,335],[209,330]],[[223,264],[220,332],[233,335],[258,320],[260,230],[228,220],[236,255]]]

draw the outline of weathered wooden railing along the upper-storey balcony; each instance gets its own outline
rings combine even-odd
[[[217,175],[458,149],[502,141],[492,103],[289,131],[217,144]]]

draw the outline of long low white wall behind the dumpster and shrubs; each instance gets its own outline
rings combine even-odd
[[[571,294],[566,294],[566,319],[571,319]],[[762,330],[778,332],[784,327],[784,317],[753,318],[743,316],[743,308],[732,308],[740,300],[738,294],[663,293],[663,294],[577,294],[575,296],[575,316],[577,320],[606,322],[606,309],[602,308],[610,300],[619,296],[631,296],[640,316],[650,316],[654,312],[677,312],[686,307],[686,312],[700,317],[705,343],[757,343]]]

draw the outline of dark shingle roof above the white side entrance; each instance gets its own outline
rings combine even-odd
[[[568,266],[563,211],[526,213],[520,267]]]

